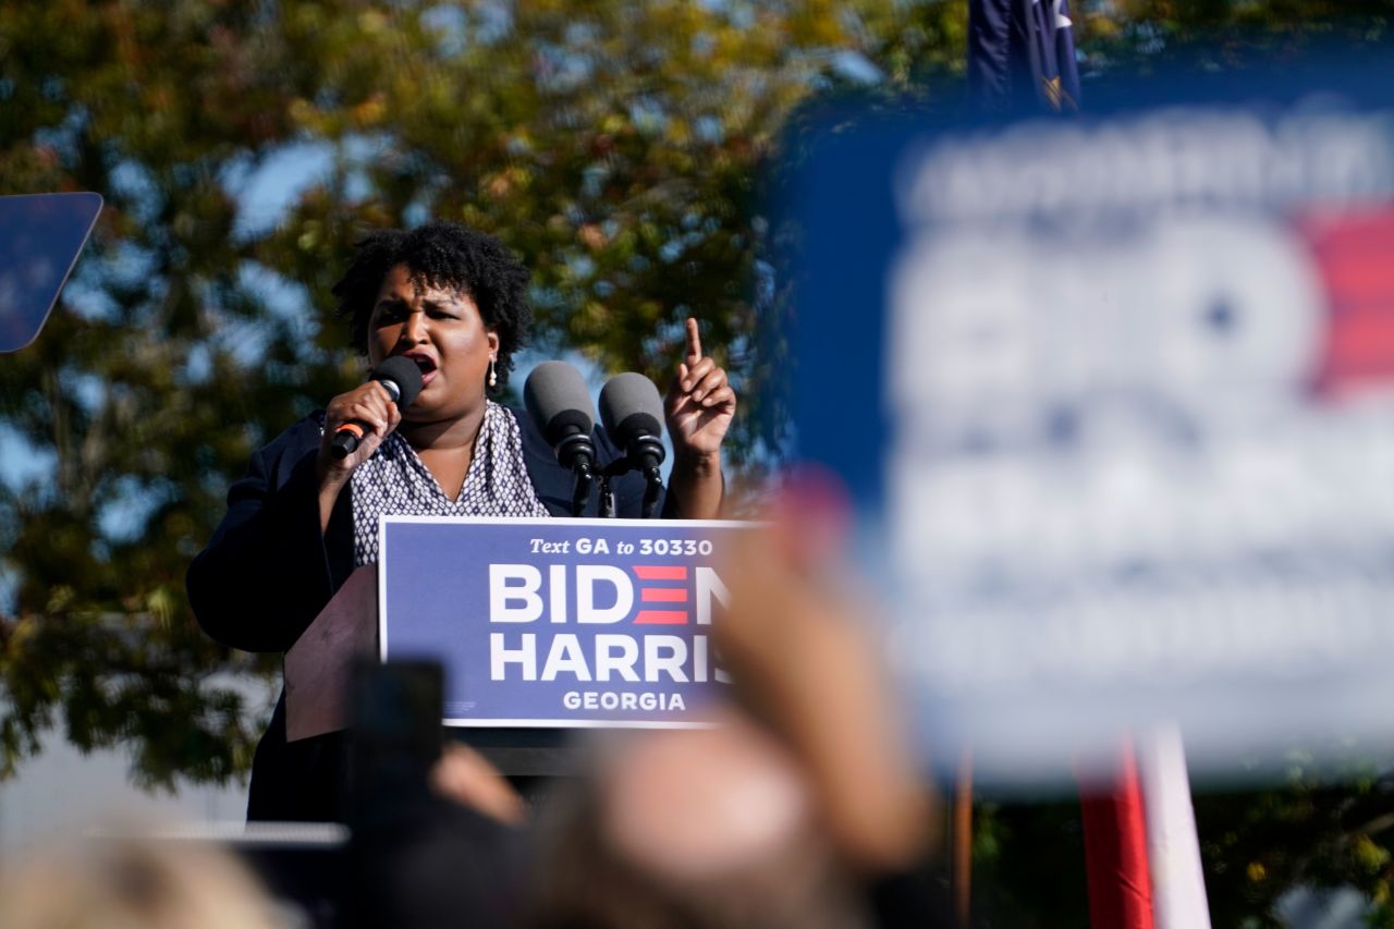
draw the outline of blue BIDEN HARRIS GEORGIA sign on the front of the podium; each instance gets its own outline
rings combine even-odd
[[[718,562],[747,527],[386,518],[381,656],[445,664],[446,725],[704,725],[725,688]]]

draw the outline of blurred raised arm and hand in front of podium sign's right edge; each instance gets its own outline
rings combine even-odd
[[[802,760],[848,863],[891,872],[928,854],[935,799],[906,745],[873,605],[849,593],[848,506],[804,473],[768,526],[726,552],[732,608],[712,635],[739,699]]]

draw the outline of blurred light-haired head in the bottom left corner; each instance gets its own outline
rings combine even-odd
[[[3,929],[272,929],[282,914],[234,858],[194,841],[89,838],[0,868]]]

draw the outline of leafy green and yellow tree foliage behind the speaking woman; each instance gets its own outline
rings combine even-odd
[[[183,573],[251,449],[360,377],[325,321],[362,230],[499,234],[534,269],[539,345],[608,370],[666,378],[696,314],[750,409],[758,166],[856,63],[903,82],[949,56],[945,10],[0,4],[0,176],[107,201],[47,329],[0,364],[0,423],[40,463],[0,487],[0,771],[60,716],[148,784],[247,769],[265,707],[224,675],[269,663],[199,633]],[[240,192],[293,145],[330,167],[259,229]]]

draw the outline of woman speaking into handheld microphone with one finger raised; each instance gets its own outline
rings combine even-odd
[[[491,236],[452,223],[385,230],[358,243],[335,285],[339,315],[376,367],[408,358],[421,392],[404,410],[369,381],[333,398],[255,452],[227,515],[190,566],[188,594],[210,636],[245,651],[286,651],[355,568],[378,561],[378,518],[566,516],[572,473],[521,410],[489,399],[507,384],[527,333],[528,273]],[[703,357],[694,319],[668,392],[673,442],[665,516],[714,519],[721,442],[736,411],[726,372]],[[362,438],[333,453],[342,425]],[[594,437],[599,464],[620,453]],[[640,515],[643,480],[616,483],[619,516]],[[286,741],[286,696],[252,762],[247,816],[342,816],[343,739]]]

